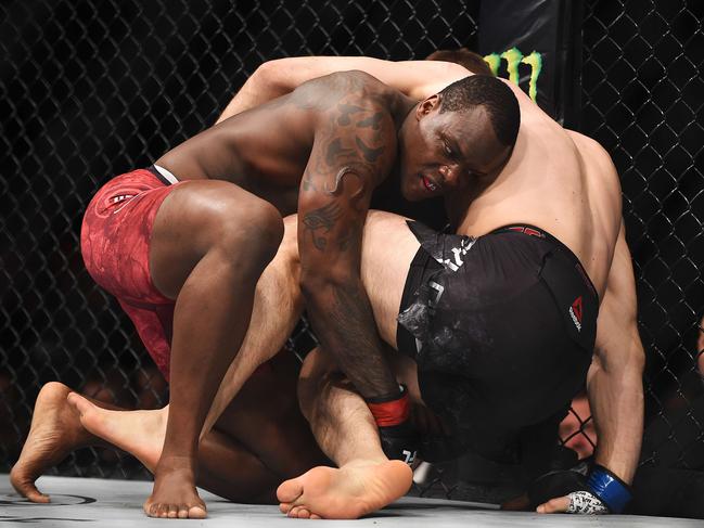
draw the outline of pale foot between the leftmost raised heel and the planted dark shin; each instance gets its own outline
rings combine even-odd
[[[137,458],[154,473],[166,434],[167,409],[155,411],[111,411],[76,392],[68,396],[80,424],[93,435]]]

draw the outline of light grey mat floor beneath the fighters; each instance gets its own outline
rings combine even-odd
[[[632,527],[703,528],[702,520],[662,517],[538,515],[507,513],[494,506],[466,502],[404,498],[399,502],[359,520],[289,519],[277,506],[253,506],[226,502],[202,492],[209,517],[204,520],[151,519],[141,504],[151,482],[94,478],[42,477],[39,489],[52,495],[51,504],[33,504],[14,493],[8,475],[0,475],[0,528],[4,527],[149,527],[176,523],[177,526],[305,528],[315,526],[367,526],[374,528],[436,527]]]

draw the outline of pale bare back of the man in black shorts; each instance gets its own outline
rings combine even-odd
[[[479,235],[514,222],[561,240],[603,293],[620,223],[620,188],[609,155],[542,112],[522,114],[511,160],[473,201],[462,224]]]

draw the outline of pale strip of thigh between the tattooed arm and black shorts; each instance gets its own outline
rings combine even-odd
[[[396,318],[420,243],[406,218],[372,210],[364,224],[361,278],[382,338],[396,347]]]

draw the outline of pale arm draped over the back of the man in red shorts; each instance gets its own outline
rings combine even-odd
[[[245,110],[293,91],[304,82],[334,72],[358,69],[418,101],[468,75],[459,64],[441,61],[392,62],[370,56],[295,56],[261,64],[228,104],[220,123]]]

